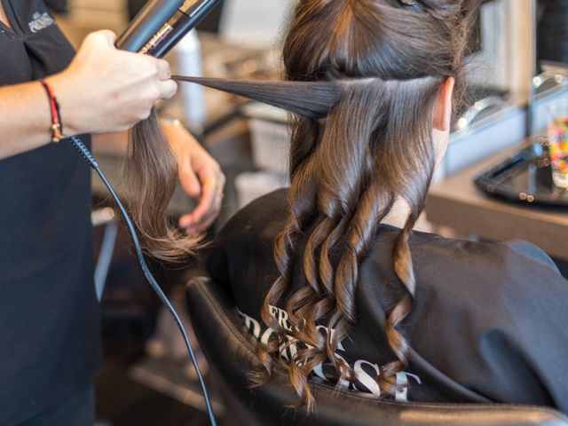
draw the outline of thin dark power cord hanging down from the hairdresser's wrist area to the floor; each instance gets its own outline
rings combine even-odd
[[[207,414],[209,414],[209,422],[211,423],[211,426],[217,426],[217,422],[215,420],[215,414],[213,413],[213,407],[211,406],[211,400],[209,398],[209,392],[208,392],[207,386],[205,385],[205,382],[203,380],[203,376],[201,375],[201,370],[199,368],[199,364],[197,362],[197,359],[195,358],[195,353],[193,352],[192,343],[189,341],[189,338],[187,337],[187,332],[185,331],[184,325],[182,324],[181,319],[179,319],[179,315],[177,314],[176,310],[171,305],[170,300],[168,299],[168,296],[166,296],[164,294],[162,288],[158,285],[158,283],[154,279],[152,272],[150,272],[150,269],[148,268],[148,264],[146,264],[146,259],[144,257],[144,253],[142,251],[142,247],[140,246],[140,241],[138,240],[138,233],[136,232],[136,228],[135,228],[134,224],[132,223],[132,220],[130,219],[128,212],[126,211],[126,209],[122,205],[122,201],[120,200],[118,195],[116,195],[116,193],[114,192],[113,186],[110,185],[110,183],[106,179],[105,174],[102,172],[102,170],[100,170],[99,163],[92,156],[91,151],[89,151],[89,148],[87,148],[87,146],[85,146],[83,144],[83,141],[80,138],[73,137],[73,138],[70,138],[70,140],[75,145],[75,148],[79,151],[79,153],[83,155],[85,160],[87,162],[89,162],[91,167],[97,172],[100,179],[106,185],[108,192],[113,196],[114,201],[116,201],[116,205],[121,210],[122,217],[124,217],[124,221],[126,222],[126,225],[127,225],[128,229],[130,231],[130,235],[132,237],[132,242],[134,243],[134,249],[136,251],[136,256],[138,256],[138,263],[140,264],[140,267],[142,268],[142,272],[144,272],[144,275],[146,276],[146,280],[148,280],[150,287],[152,287],[154,289],[156,295],[158,295],[158,297],[162,301],[162,304],[164,304],[166,306],[166,308],[170,312],[171,316],[176,321],[176,325],[179,328],[179,331],[184,336],[185,347],[187,348],[187,352],[189,353],[189,356],[192,359],[193,367],[195,367],[195,371],[197,372],[197,377],[199,378],[199,383],[201,384],[201,390],[203,391],[203,398],[205,399],[205,406],[207,408]]]

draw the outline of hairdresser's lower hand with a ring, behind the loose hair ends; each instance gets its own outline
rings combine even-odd
[[[204,233],[221,210],[225,175],[213,157],[185,128],[165,125],[164,133],[177,155],[179,182],[185,193],[198,200],[193,212],[179,219],[179,226],[190,235]]]

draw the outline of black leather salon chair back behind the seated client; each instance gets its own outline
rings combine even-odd
[[[312,383],[317,413],[306,417],[296,404],[288,376],[274,368],[272,380],[255,390],[248,372],[256,365],[255,343],[244,329],[231,298],[207,278],[191,280],[187,305],[201,349],[222,390],[225,420],[237,425],[304,426],[568,426],[555,410],[535,406],[395,403]]]

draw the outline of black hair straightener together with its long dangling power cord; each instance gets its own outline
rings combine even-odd
[[[144,9],[138,13],[135,19],[132,20],[130,26],[122,36],[117,39],[116,47],[125,51],[145,53],[156,58],[162,58],[162,56],[168,53],[189,31],[195,28],[219,2],[220,0],[151,0],[146,4]],[[179,319],[179,315],[171,305],[168,296],[163,293],[162,288],[158,285],[146,264],[144,253],[138,241],[136,227],[132,223],[122,201],[114,192],[114,188],[110,185],[102,170],[100,170],[99,164],[92,156],[87,146],[77,137],[71,138],[71,142],[75,145],[79,153],[83,155],[85,160],[91,164],[91,167],[99,174],[99,177],[106,185],[109,193],[113,196],[114,201],[116,201],[118,209],[121,210],[126,226],[132,237],[142,272],[144,272],[146,280],[148,280],[148,283],[154,289],[157,296],[162,301],[162,304],[166,306],[171,316],[176,321],[177,327],[184,337],[185,346],[201,384],[205,406],[209,414],[209,422],[212,426],[216,426],[217,422],[213,414],[209,392],[203,381],[203,376],[201,375],[201,370],[195,358],[192,344],[187,337],[187,332],[185,331],[181,319]]]

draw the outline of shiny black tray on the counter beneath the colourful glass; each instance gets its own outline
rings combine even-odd
[[[475,184],[507,201],[568,208],[568,191],[553,185],[550,160],[538,141],[479,175]]]

